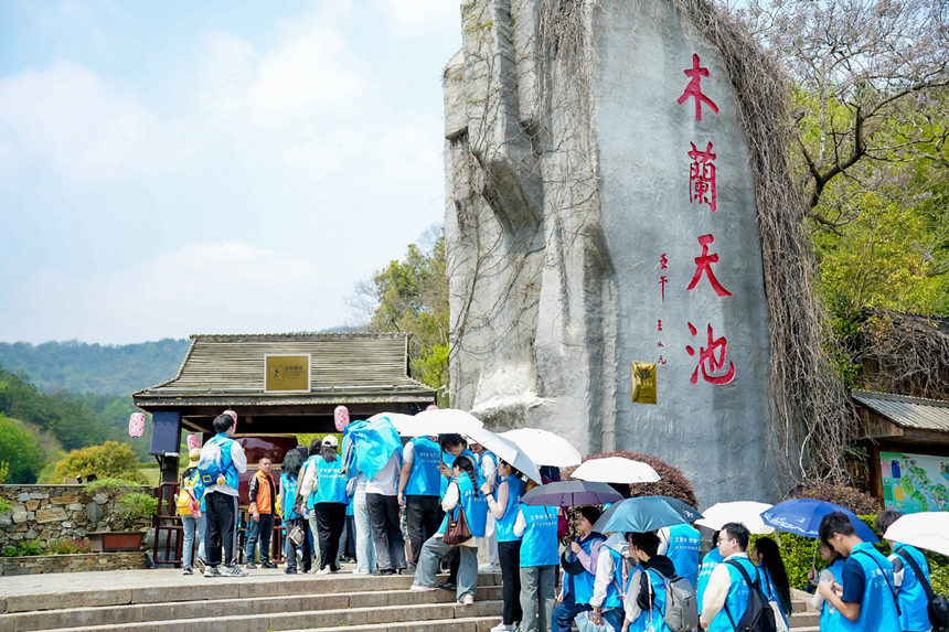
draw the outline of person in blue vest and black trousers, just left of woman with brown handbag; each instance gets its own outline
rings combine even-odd
[[[441,449],[431,437],[416,437],[402,450],[402,472],[398,478],[398,504],[405,507],[408,531],[408,572],[415,572],[418,554],[426,539],[435,535],[441,516],[440,499]]]

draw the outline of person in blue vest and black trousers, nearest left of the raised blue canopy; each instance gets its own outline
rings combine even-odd
[[[337,557],[346,519],[346,478],[342,472],[342,459],[337,453],[338,447],[339,439],[327,435],[316,460],[316,484],[310,493],[317,516],[317,539],[322,564],[322,568],[317,571],[319,575],[339,571]]]

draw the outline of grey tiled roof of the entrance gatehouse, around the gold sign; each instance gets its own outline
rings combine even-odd
[[[310,393],[264,393],[264,356],[310,355]],[[250,398],[258,405],[434,399],[407,375],[408,336],[376,333],[192,335],[178,375],[132,395],[136,405],[174,400],[214,404]],[[407,398],[406,398],[407,397]],[[380,399],[382,398],[382,399]]]

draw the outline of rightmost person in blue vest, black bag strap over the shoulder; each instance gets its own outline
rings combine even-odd
[[[873,526],[881,534],[885,534],[889,525],[900,516],[903,514],[897,511],[884,510],[877,514]],[[930,583],[929,564],[916,547],[894,540],[887,542],[893,546],[889,561],[893,564],[893,582],[897,589],[900,629],[904,632],[927,632],[932,629],[932,623],[929,622],[929,597],[923,582]],[[916,576],[910,559],[923,574],[921,578]]]

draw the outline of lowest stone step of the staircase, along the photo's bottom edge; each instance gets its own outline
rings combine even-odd
[[[409,629],[413,629],[410,625],[415,625],[417,622],[436,620],[451,620],[448,622],[448,626],[454,628],[454,620],[456,619],[491,619],[497,624],[500,621],[501,608],[501,601],[476,601],[471,606],[454,602],[423,603],[396,608],[345,608],[252,615],[169,619],[140,623],[108,623],[105,625],[56,628],[50,632],[181,632],[182,630],[259,632],[260,630],[313,630],[321,623],[345,630],[352,630],[355,625],[375,625],[388,630],[388,624],[392,623],[409,625]]]

